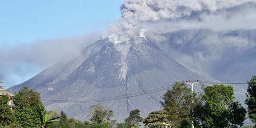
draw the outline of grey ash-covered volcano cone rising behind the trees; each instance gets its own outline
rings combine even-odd
[[[70,117],[85,120],[89,107],[102,103],[110,106],[115,119],[123,121],[133,109],[140,109],[143,117],[161,109],[159,101],[165,91],[102,102],[95,99],[146,93],[182,80],[212,81],[177,63],[144,37],[131,37],[122,43],[101,40],[86,48],[81,56],[64,65],[54,77],[48,76],[43,82],[38,79],[47,70],[55,71],[55,66],[17,88],[27,85],[40,90],[42,99],[47,99],[47,109],[64,110]],[[36,86],[30,84],[34,81]]]

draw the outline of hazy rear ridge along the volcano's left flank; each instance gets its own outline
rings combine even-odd
[[[70,62],[59,62],[45,69],[43,72],[37,74],[28,81],[13,86],[12,90],[14,92],[17,92],[23,86],[36,89],[37,91],[46,90],[48,85],[63,80],[66,76],[72,73],[73,70],[75,70],[80,64],[82,64],[84,60],[86,60],[89,56],[95,54],[96,52],[100,51],[100,49],[108,42],[108,39],[98,40],[91,46],[86,47],[81,55],[77,56]]]

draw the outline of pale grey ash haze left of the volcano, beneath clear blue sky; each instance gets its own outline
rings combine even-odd
[[[0,46],[0,81],[8,86],[24,82],[53,64],[73,59],[101,35],[96,32]]]

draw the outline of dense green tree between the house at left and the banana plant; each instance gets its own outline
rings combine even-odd
[[[45,110],[43,103],[40,101],[40,93],[34,90],[29,90],[28,87],[23,87],[18,93],[15,93],[14,115],[17,119],[17,124],[22,128],[40,128],[41,119],[38,113],[38,105]]]

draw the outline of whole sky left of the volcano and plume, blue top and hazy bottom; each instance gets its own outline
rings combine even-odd
[[[91,33],[102,32],[118,22],[122,3],[0,0],[0,81],[16,85],[68,55],[78,55],[78,49],[100,36]]]

